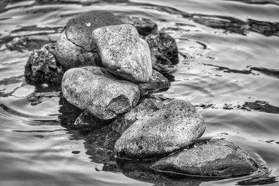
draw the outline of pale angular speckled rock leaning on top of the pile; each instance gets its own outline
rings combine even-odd
[[[134,26],[120,24],[95,29],[93,40],[109,72],[136,83],[151,80],[150,49]]]

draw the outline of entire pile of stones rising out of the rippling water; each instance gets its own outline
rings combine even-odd
[[[110,136],[117,138],[103,144],[118,158],[162,158],[149,169],[193,176],[239,176],[258,169],[252,157],[223,139],[189,148],[206,129],[190,102],[144,98],[169,87],[160,72],[178,63],[175,40],[158,33],[150,20],[84,13],[68,22],[54,47],[47,46],[31,54],[27,79],[58,83],[63,75],[63,97],[84,110],[75,126],[89,133],[96,125],[112,129]]]

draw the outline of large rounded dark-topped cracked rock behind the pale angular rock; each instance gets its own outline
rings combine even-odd
[[[102,26],[122,24],[112,13],[93,10],[72,18],[57,40],[56,58],[64,68],[101,65],[100,56],[91,37],[92,31]]]

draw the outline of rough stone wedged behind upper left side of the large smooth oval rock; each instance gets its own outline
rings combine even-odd
[[[119,117],[112,123],[112,128],[122,134],[128,127],[133,125],[135,121],[144,118],[148,114],[152,114],[154,111],[163,107],[161,100],[146,99],[143,100],[137,107],[131,109],[128,113]]]

